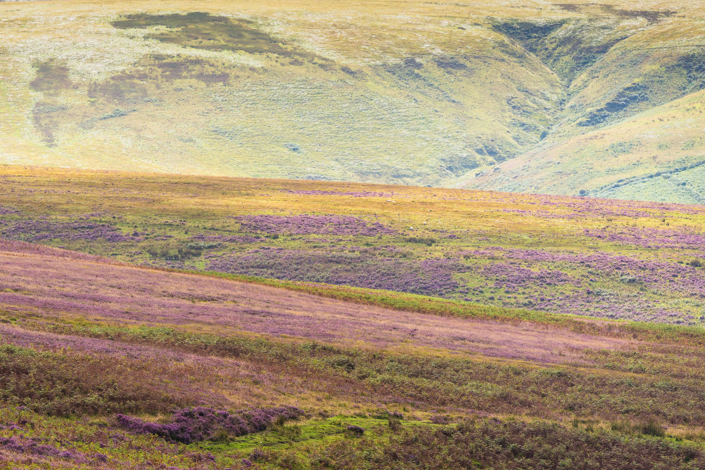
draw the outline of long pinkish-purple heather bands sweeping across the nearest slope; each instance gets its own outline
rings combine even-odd
[[[57,256],[51,252],[56,252]],[[342,345],[360,341],[381,348],[415,345],[546,362],[565,358],[579,360],[568,351],[576,342],[596,349],[623,347],[616,340],[604,342],[568,332],[549,334],[521,324],[493,325],[456,318],[439,323],[436,316],[429,314],[351,306],[273,287],[109,264],[95,257],[88,259],[87,255],[80,255],[86,258],[77,260],[59,256],[64,253],[68,252],[46,247],[41,255],[35,256],[0,253],[2,272],[13,280],[10,284],[0,278],[0,306],[8,314],[37,312],[47,321],[89,316],[123,324],[191,326],[229,335],[246,331]],[[321,324],[326,328],[321,328]],[[161,348],[106,338],[23,330],[8,323],[0,323],[0,339],[52,352],[68,347],[102,357],[109,354],[157,362],[160,358],[180,358],[188,365],[202,368],[230,366]],[[192,394],[199,392],[194,385],[180,386]]]

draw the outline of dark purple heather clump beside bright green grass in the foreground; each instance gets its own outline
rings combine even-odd
[[[297,407],[250,408],[230,413],[208,407],[177,410],[168,423],[153,423],[124,414],[116,415],[123,428],[137,434],[158,435],[173,443],[197,443],[225,433],[237,437],[264,431],[272,421],[298,418],[303,414]]]

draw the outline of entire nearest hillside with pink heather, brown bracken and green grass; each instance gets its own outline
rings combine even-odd
[[[26,242],[0,266],[3,468],[705,464],[701,328],[441,316]]]

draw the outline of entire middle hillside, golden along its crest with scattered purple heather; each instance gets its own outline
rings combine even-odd
[[[8,239],[461,310],[705,322],[702,206],[13,166],[0,178]]]

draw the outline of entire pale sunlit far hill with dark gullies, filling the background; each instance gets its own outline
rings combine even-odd
[[[3,2],[1,159],[702,202],[699,6],[486,3]]]

